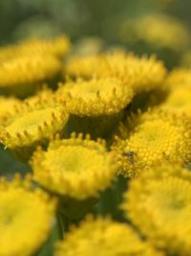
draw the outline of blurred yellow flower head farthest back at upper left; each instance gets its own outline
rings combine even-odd
[[[19,55],[53,55],[63,57],[70,50],[70,40],[67,35],[55,37],[53,39],[32,38],[20,42],[17,47]]]

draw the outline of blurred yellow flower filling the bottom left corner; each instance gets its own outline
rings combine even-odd
[[[0,255],[31,256],[46,242],[54,223],[55,201],[32,190],[27,179],[0,180]]]

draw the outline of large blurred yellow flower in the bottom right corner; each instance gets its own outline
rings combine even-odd
[[[191,174],[162,165],[132,180],[122,204],[125,215],[152,244],[169,255],[190,255]]]

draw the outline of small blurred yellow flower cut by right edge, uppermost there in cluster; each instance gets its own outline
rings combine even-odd
[[[174,69],[166,81],[170,90],[177,88],[191,88],[191,69]]]

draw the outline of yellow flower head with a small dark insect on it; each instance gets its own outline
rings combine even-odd
[[[134,176],[165,160],[191,161],[191,122],[185,116],[154,109],[136,116],[132,131],[120,127],[113,151],[117,151],[120,172]]]

